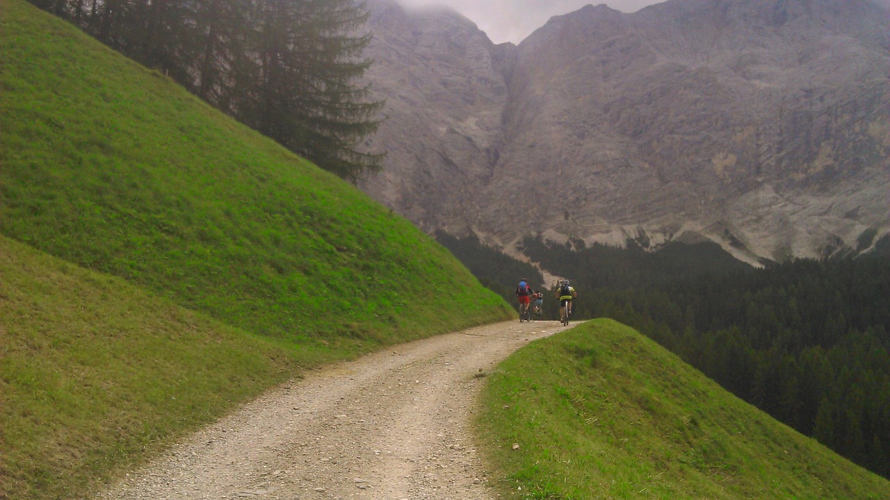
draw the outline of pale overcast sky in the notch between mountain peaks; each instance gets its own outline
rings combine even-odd
[[[636,12],[664,0],[398,0],[405,5],[448,5],[464,14],[500,44],[518,44],[553,16],[574,12],[587,4],[607,4],[621,12]]]

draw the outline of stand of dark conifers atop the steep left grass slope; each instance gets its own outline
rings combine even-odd
[[[348,180],[380,168],[352,0],[30,0]]]

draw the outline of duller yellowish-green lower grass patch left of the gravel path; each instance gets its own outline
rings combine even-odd
[[[268,339],[0,237],[0,498],[75,498],[294,363]]]

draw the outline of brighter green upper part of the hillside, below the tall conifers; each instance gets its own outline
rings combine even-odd
[[[510,313],[400,216],[22,0],[0,53],[0,233],[333,356]]]

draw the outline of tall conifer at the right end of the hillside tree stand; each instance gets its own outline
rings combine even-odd
[[[355,181],[380,167],[360,149],[383,103],[368,101],[360,54],[368,18],[352,0],[262,0],[257,29],[236,63],[236,116],[316,165]]]

